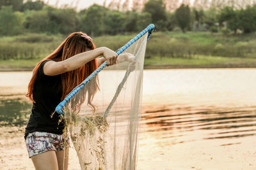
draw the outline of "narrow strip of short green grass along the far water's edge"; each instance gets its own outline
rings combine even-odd
[[[40,59],[0,60],[0,71],[32,71]],[[256,59],[195,56],[191,58],[153,57],[145,59],[145,69],[256,67]]]

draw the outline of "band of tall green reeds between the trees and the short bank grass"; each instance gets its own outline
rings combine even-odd
[[[95,45],[118,50],[136,34],[99,36]],[[253,57],[256,53],[256,34],[246,37],[222,36],[210,32],[155,32],[147,44],[147,58],[170,57],[191,59],[198,55],[221,57]],[[46,34],[27,34],[0,39],[0,59],[39,59],[46,57],[63,38]]]

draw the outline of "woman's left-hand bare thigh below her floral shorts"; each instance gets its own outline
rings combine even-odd
[[[58,160],[54,150],[31,157],[36,170],[58,170]]]

